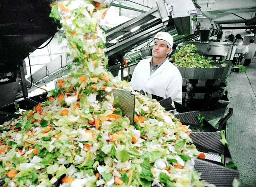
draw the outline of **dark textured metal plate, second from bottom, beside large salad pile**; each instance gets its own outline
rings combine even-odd
[[[219,141],[221,139],[220,132],[191,132],[190,138],[201,152],[224,154],[224,146]]]

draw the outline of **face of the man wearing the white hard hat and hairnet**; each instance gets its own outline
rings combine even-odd
[[[171,48],[167,47],[166,42],[164,41],[155,41],[155,45],[152,50],[152,55],[155,58],[163,58],[170,53]]]

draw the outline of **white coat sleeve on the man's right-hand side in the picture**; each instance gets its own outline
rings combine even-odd
[[[173,101],[182,104],[182,76],[177,73],[170,81],[166,90],[166,97],[171,97]]]

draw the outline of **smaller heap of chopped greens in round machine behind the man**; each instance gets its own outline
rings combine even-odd
[[[188,68],[217,68],[210,64],[214,62],[210,58],[205,58],[195,53],[197,50],[194,44],[188,44],[181,46],[179,50],[169,59],[173,61],[173,65],[177,67],[188,67]]]

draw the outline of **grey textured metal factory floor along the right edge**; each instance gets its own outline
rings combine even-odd
[[[233,115],[227,124],[227,141],[241,186],[256,186],[256,59],[246,73],[231,73],[228,99]]]

